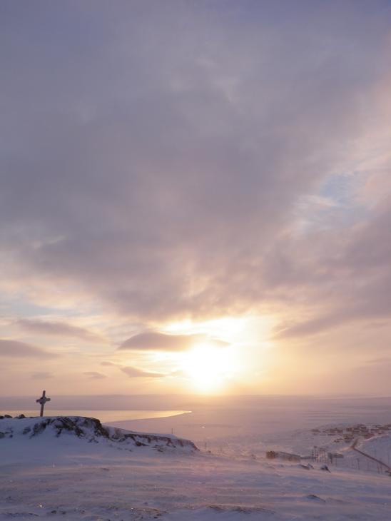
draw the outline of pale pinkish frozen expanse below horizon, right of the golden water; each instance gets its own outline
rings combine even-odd
[[[346,423],[390,423],[391,397],[240,396],[181,400],[190,413],[168,418],[121,420],[120,428],[171,433],[199,445],[270,439],[295,430]]]

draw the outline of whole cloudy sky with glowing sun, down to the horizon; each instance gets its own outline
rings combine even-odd
[[[0,60],[1,395],[391,395],[391,1],[2,0]]]

